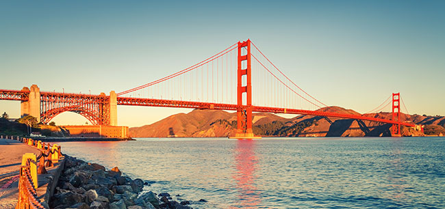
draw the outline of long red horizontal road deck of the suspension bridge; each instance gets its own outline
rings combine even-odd
[[[28,100],[29,91],[24,90],[9,90],[0,89],[0,100]],[[65,97],[72,100],[73,98],[82,99],[88,102],[92,100],[97,100],[98,98],[109,97],[105,95],[92,95],[92,94],[68,94],[60,92],[40,92],[42,97]],[[183,100],[162,100],[153,98],[131,98],[131,97],[117,97],[118,105],[130,105],[130,106],[147,106],[147,107],[175,107],[175,108],[188,108],[188,109],[220,109],[228,111],[236,111],[238,108],[237,104],[223,104],[223,103],[212,103],[212,102],[192,102]],[[246,106],[242,106],[246,107]],[[303,109],[286,109],[279,107],[260,107],[252,106],[253,112],[264,112],[264,113],[288,113],[288,114],[298,114],[298,115],[318,115],[326,117],[338,117],[347,118],[355,120],[368,120],[373,122],[382,122],[386,124],[400,124],[403,126],[414,127],[416,124],[410,124],[407,122],[397,122],[393,120],[385,120],[377,117],[366,117],[363,115],[353,115],[353,114],[343,114],[343,113],[332,113],[327,111],[309,111]]]

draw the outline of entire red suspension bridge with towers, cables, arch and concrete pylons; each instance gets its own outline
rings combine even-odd
[[[92,124],[117,125],[116,105],[220,109],[236,111],[235,137],[253,138],[252,112],[319,115],[392,124],[392,135],[401,135],[401,96],[392,94],[371,112],[391,105],[392,120],[366,115],[334,113],[286,76],[250,40],[238,42],[194,66],[151,83],[107,96],[40,92],[36,85],[21,90],[0,89],[0,100],[20,100],[21,115],[48,123],[56,115],[73,111]],[[403,105],[405,105],[403,103]],[[405,107],[406,109],[406,107]]]

